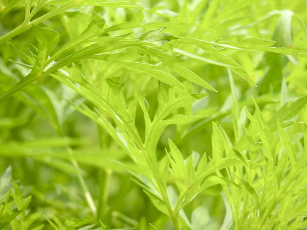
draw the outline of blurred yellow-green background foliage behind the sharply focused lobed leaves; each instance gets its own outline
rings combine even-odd
[[[9,2],[9,1],[7,1]],[[155,28],[177,37],[215,41],[241,41],[249,37],[276,40],[276,47],[306,46],[307,1],[235,1],[235,0],[141,0],[131,1],[145,7],[143,26],[120,32],[110,32],[116,36],[124,33],[139,37]],[[53,5],[50,5],[52,9]],[[42,8],[35,17],[49,11]],[[105,28],[130,21],[138,9],[82,6],[67,10],[43,21],[39,26],[56,30],[60,35],[58,49],[68,40],[79,35],[91,22],[96,11],[105,20]],[[291,15],[293,12],[293,15]],[[1,14],[0,34],[5,34],[20,25],[25,15],[24,7],[15,7]],[[289,16],[290,15],[290,16]],[[29,74],[27,66],[20,66],[18,52],[35,54],[36,37],[32,29],[18,34],[8,42],[0,44],[0,93],[5,93],[20,79]],[[194,45],[177,44],[177,49],[193,53],[203,58],[215,60]],[[80,47],[76,47],[76,50]],[[281,80],[287,82],[288,97],[295,100],[307,94],[307,62],[304,58],[265,52],[234,52],[226,50],[225,55],[242,65],[258,87],[254,87],[233,74],[236,96],[240,107],[253,108],[251,96],[255,98],[265,118],[270,118],[280,101]],[[270,56],[271,55],[271,56]],[[11,61],[13,60],[13,61]],[[149,59],[150,61],[150,59]],[[152,61],[152,60],[151,60]],[[158,106],[158,81],[144,73],[127,71],[114,63],[97,60],[81,60],[84,77],[98,89],[103,90],[102,80],[120,77],[125,83],[123,93],[127,102],[133,101],[140,93],[150,105],[149,116],[153,118]],[[154,63],[152,61],[152,63]],[[205,90],[201,86],[178,79],[193,93],[207,92],[209,97],[193,103],[191,108],[183,108],[187,114],[206,115],[206,119],[190,125],[168,126],[163,132],[157,148],[158,159],[168,149],[168,139],[180,148],[184,157],[196,151],[201,155],[212,152],[212,124],[221,124],[231,141],[235,140],[231,118],[231,89],[227,68],[190,57],[182,63],[212,85],[218,93]],[[164,85],[168,88],[167,85]],[[52,219],[87,218],[95,222],[83,196],[76,169],[69,161],[68,146],[76,152],[76,160],[94,202],[107,194],[107,205],[103,222],[114,228],[138,226],[139,229],[171,229],[168,218],[152,205],[142,189],[131,180],[133,176],[126,168],[135,169],[130,158],[117,146],[103,129],[70,106],[85,101],[74,91],[68,90],[49,76],[19,91],[13,97],[0,102],[0,174],[12,166],[13,178],[23,189],[24,197],[32,195],[29,205],[31,212],[42,212]],[[180,110],[181,111],[181,110]],[[300,111],[298,121],[307,122],[307,108]],[[62,130],[59,130],[58,122]],[[144,119],[137,107],[136,126],[140,136],[144,136]],[[300,132],[298,124],[291,126],[292,135]],[[93,159],[86,154],[96,154]],[[97,155],[103,155],[97,157]],[[100,156],[98,155],[98,156]],[[108,160],[113,159],[113,160]],[[122,167],[114,160],[125,164]],[[170,183],[172,183],[170,181]],[[105,190],[106,185],[106,190]],[[188,216],[198,206],[205,203],[212,226],[220,226],[225,216],[225,206],[219,195],[221,187],[200,194],[185,209]],[[41,221],[47,223],[45,217]],[[45,229],[45,228],[44,228]],[[46,225],[46,229],[48,228]],[[214,229],[212,227],[212,229]]]

